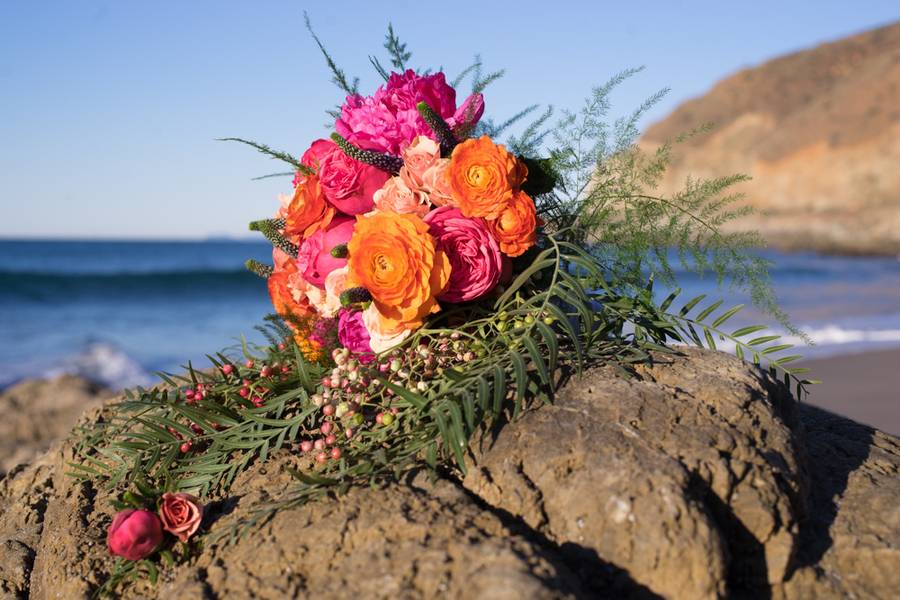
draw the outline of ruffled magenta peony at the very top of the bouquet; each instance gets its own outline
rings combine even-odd
[[[412,70],[392,73],[373,96],[348,96],[335,129],[360,148],[399,156],[416,136],[434,137],[419,115],[416,108],[419,102],[426,102],[451,127],[464,122],[474,126],[484,111],[484,101],[477,96],[480,94],[466,100],[457,110],[456,91],[447,84],[443,73],[417,75]]]

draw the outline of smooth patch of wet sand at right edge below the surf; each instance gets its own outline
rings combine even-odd
[[[799,366],[799,365],[798,365]],[[900,435],[900,350],[883,350],[805,361],[810,404]]]

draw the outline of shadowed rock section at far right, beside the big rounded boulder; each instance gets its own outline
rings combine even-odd
[[[810,518],[776,597],[887,598],[900,590],[900,439],[804,405]]]

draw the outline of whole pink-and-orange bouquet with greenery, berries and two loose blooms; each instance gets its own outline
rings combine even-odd
[[[121,510],[101,591],[190,557],[210,524],[203,505],[276,452],[295,457],[295,487],[214,539],[351,485],[465,472],[472,436],[551,402],[561,378],[597,364],[627,376],[673,342],[726,340],[798,394],[809,383],[790,368],[796,357],[776,358],[788,346],[758,335],[764,327],[726,329],[739,306],[678,302],[673,256],[748,287],[779,316],[750,251],[758,239],[719,228],[743,212],[725,192],[741,178],[654,196],[671,147],[645,156],[634,143],[653,99],[604,123],[609,92],[632,72],[557,124],[548,110],[501,141],[534,109],[487,119],[483,92],[498,74],[480,61],[448,83],[406,68],[389,29],[396,71],[373,59],[384,81],[367,96],[319,46],[346,96],[330,137],[299,159],[229,138],[291,167],[291,193],[250,225],[273,244],[271,265],[248,262],[274,307],[260,328],[269,344],[161,374],[80,432],[73,473],[106,482]],[[655,279],[670,292],[662,301]]]

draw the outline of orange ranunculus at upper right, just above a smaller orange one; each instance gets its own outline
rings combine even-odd
[[[525,163],[483,135],[454,148],[446,177],[465,216],[496,219],[527,175]]]

